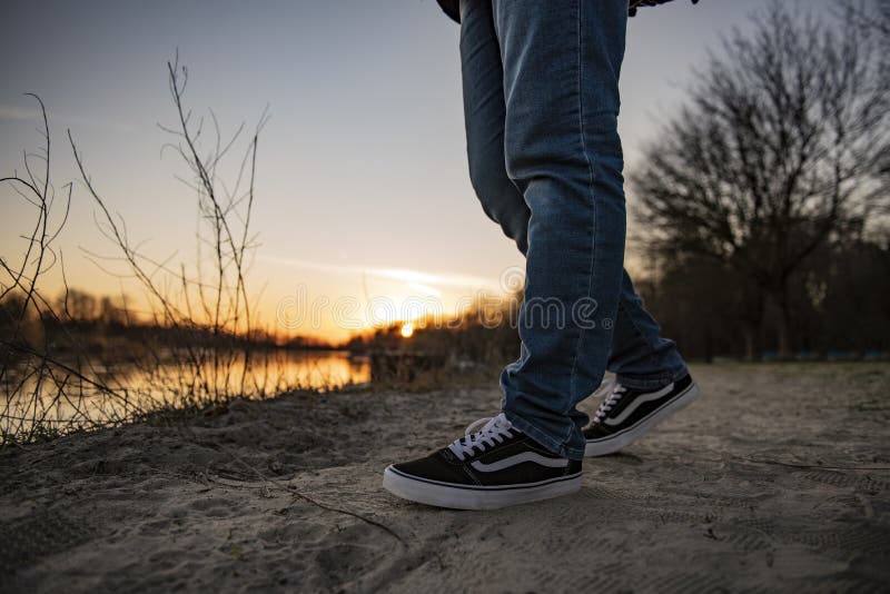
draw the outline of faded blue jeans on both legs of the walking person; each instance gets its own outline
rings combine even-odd
[[[461,0],[467,154],[483,209],[526,256],[507,418],[570,458],[605,370],[636,388],[686,373],[624,270],[619,73],[627,0]]]

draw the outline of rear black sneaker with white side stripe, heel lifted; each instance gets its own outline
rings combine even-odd
[[[611,388],[593,423],[584,429],[585,456],[617,452],[699,397],[699,386],[689,374],[656,390],[634,389],[617,383]]]

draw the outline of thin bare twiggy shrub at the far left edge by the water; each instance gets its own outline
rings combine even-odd
[[[66,226],[71,204],[71,185],[57,199],[50,180],[51,140],[43,101],[39,132],[42,145],[23,151],[23,171],[0,178],[33,214],[33,224],[21,236],[24,249],[18,257],[0,255],[0,446],[27,443],[69,430],[120,423],[138,414],[119,386],[109,387],[98,374],[77,337],[66,334],[71,353],[62,357],[46,333],[47,323],[65,327],[71,320],[68,287],[61,304],[53,305],[43,289],[47,274],[58,267],[65,271],[56,239]],[[82,294],[81,294],[82,295]],[[78,300],[80,315],[92,315],[88,300]],[[108,404],[103,412],[88,406],[96,396]]]

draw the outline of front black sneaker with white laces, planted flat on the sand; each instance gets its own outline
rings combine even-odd
[[[581,462],[544,449],[501,413],[435,454],[388,466],[383,486],[437,507],[495,509],[578,491]]]

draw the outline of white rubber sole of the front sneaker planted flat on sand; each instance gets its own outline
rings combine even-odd
[[[474,487],[412,477],[388,466],[383,473],[383,486],[396,497],[435,507],[497,509],[575,493],[581,489],[581,473],[541,483]]]

